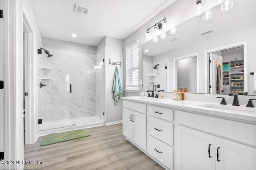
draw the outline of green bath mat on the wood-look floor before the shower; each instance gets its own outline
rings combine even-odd
[[[43,137],[41,141],[41,146],[59,143],[59,142],[65,142],[68,140],[83,138],[87,136],[90,136],[90,132],[86,128],[72,130],[68,132],[47,134]]]

